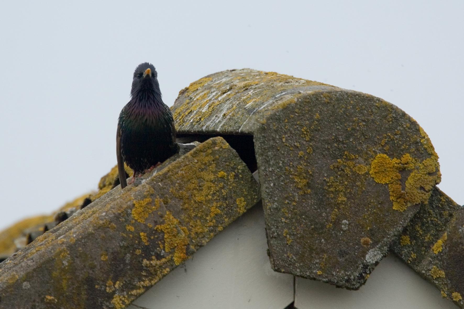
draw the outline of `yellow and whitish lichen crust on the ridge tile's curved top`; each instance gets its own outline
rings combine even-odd
[[[209,124],[208,120],[211,116],[220,116],[223,122],[226,117],[245,116],[247,112],[244,107],[248,110],[258,109],[263,102],[285,93],[285,90],[295,86],[313,85],[323,84],[274,72],[256,72],[244,76],[239,71],[235,71],[232,74],[227,73],[226,76],[204,77],[180,92],[177,101],[183,103],[172,108],[173,115],[178,128],[183,125],[198,124],[200,121]],[[210,94],[202,97],[201,93],[205,91],[209,91]],[[286,101],[288,100],[283,99],[276,104],[270,104],[269,109],[281,109],[291,103]],[[227,105],[229,106],[226,109],[220,108]],[[263,120],[263,117],[260,118],[258,121]]]

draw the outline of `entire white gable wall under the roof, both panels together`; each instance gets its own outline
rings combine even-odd
[[[255,206],[129,309],[455,309],[440,291],[393,255],[358,291],[271,270],[264,216]]]

